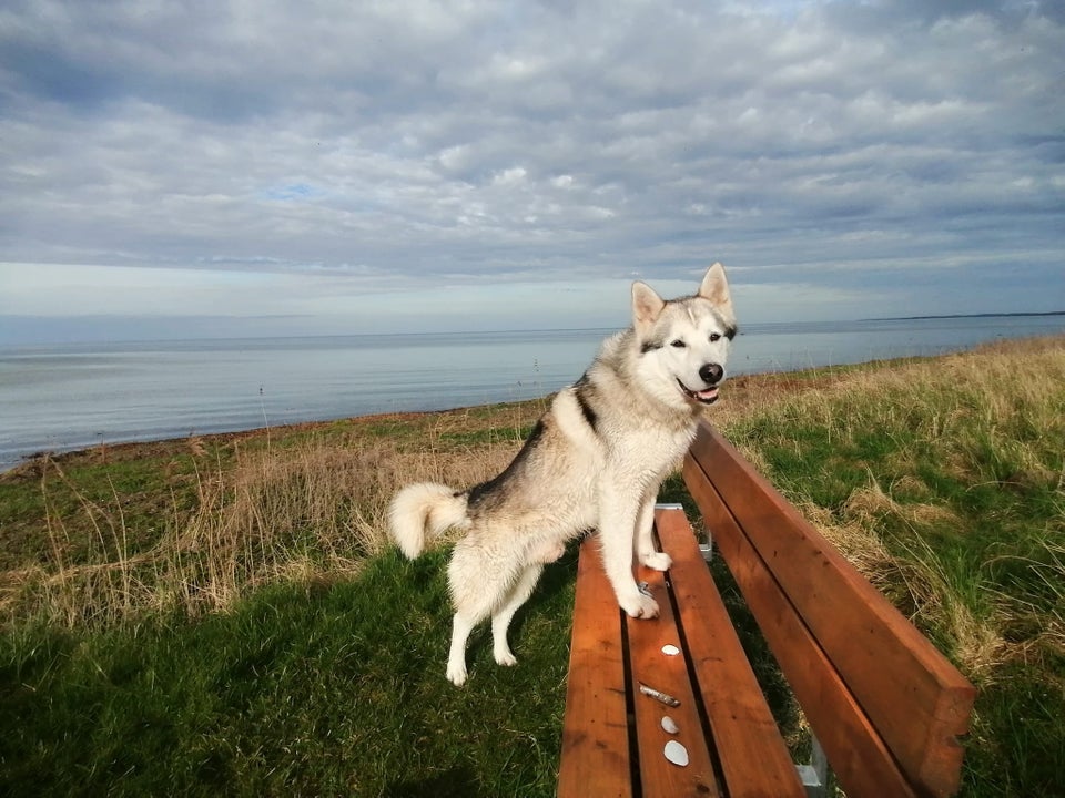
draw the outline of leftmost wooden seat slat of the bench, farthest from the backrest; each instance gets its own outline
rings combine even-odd
[[[598,549],[586,540],[577,564],[559,798],[632,796],[621,610]]]

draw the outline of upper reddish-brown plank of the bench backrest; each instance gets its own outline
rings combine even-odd
[[[922,791],[955,791],[963,754],[956,737],[967,730],[973,686],[708,426],[700,426],[690,457],[703,475],[713,474],[750,544],[832,652],[903,771]]]

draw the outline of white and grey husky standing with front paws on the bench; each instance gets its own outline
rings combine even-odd
[[[633,552],[665,571],[651,540],[659,485],[688,449],[700,410],[718,398],[736,316],[724,268],[714,264],[694,296],[663,300],[632,285],[632,327],[604,341],[595,362],[559,391],[507,469],[469,490],[436,483],[400,490],[390,534],[410,559],[448,529],[462,531],[448,567],[455,618],[447,678],[466,682],[466,642],[491,616],[496,662],[514,665],[507,627],[544,564],[596,528],[618,604],[658,615],[640,592]]]

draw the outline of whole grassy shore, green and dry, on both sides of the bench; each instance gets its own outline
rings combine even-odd
[[[493,475],[542,408],[0,477],[0,794],[554,795],[572,553],[516,618],[519,665],[480,630],[456,689],[446,551],[383,539],[398,484]],[[1065,339],[740,378],[711,418],[976,684],[963,795],[1063,794]]]

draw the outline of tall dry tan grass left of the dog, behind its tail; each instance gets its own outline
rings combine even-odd
[[[276,580],[348,579],[387,545],[386,508],[399,487],[423,480],[467,487],[490,478],[513,458],[536,411],[514,409],[513,431],[475,434],[473,443],[455,442],[469,413],[412,420],[414,437],[314,436],[286,443],[274,429],[265,449],[237,448],[232,463],[201,458],[193,509],[174,502],[163,533],[145,551],[131,550],[129,541],[140,534],[130,529],[118,490],[106,501],[89,499],[62,466],[48,461],[40,484],[49,554],[6,574],[0,620],[73,628],[145,613],[196,616],[224,611]],[[503,416],[494,423],[500,420],[508,421]],[[77,497],[78,518],[51,505],[57,485]],[[88,546],[75,543],[87,529]],[[72,550],[82,553],[74,557]]]

